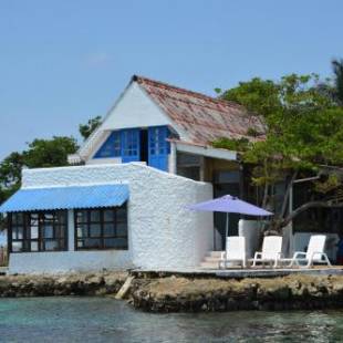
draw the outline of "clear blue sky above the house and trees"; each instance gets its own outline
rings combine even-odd
[[[341,0],[1,0],[0,159],[79,136],[133,74],[215,95],[253,76],[331,75]]]

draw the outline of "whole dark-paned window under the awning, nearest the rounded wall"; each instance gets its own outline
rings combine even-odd
[[[75,210],[76,250],[127,249],[126,205]]]

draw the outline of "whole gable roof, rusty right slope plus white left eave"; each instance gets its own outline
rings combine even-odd
[[[69,156],[70,163],[76,164],[89,159],[98,144],[106,139],[108,128],[104,127],[105,122],[133,83],[136,83],[147,97],[175,123],[174,128],[180,135],[181,143],[206,147],[221,137],[248,138],[249,141],[264,137],[266,126],[262,118],[249,113],[239,104],[134,75],[105,116],[103,124],[92,133],[76,154]],[[249,136],[249,128],[261,135],[257,138]],[[174,141],[177,142],[177,139]]]

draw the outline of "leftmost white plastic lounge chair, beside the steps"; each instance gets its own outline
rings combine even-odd
[[[230,264],[240,264],[246,268],[246,237],[227,237],[226,251],[221,253],[219,269],[227,268]]]

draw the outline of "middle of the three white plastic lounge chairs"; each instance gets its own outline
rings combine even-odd
[[[257,263],[269,263],[270,266],[277,268],[281,259],[282,249],[282,237],[281,236],[267,236],[263,238],[262,251],[257,251],[253,259],[249,261],[252,262],[251,267],[256,267]]]

